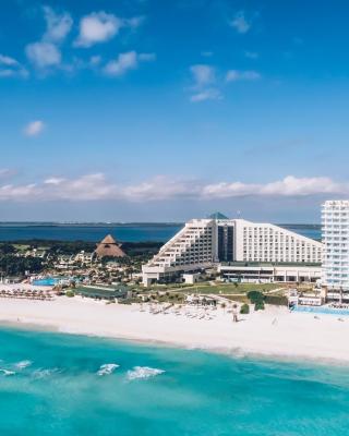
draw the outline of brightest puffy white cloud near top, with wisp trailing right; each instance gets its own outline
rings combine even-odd
[[[122,27],[136,28],[143,22],[142,16],[120,19],[104,11],[93,12],[80,21],[80,34],[74,43],[75,47],[88,48],[95,44],[105,43],[113,38]]]

